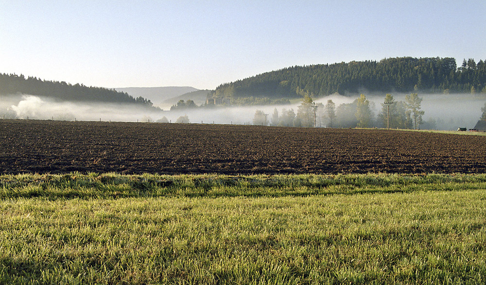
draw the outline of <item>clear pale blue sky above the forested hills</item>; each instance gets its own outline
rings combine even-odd
[[[1,0],[0,73],[102,87],[219,84],[295,65],[486,59],[486,1]]]

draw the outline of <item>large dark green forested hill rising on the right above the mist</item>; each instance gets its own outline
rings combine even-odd
[[[325,65],[295,66],[266,72],[218,86],[217,98],[292,98],[305,93],[325,96],[335,92],[486,92],[486,63],[454,58],[385,58]]]

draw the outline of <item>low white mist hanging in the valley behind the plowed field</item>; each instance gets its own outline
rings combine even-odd
[[[405,94],[392,94],[395,101],[404,101]],[[471,94],[419,94],[423,98],[421,109],[425,111],[424,122],[428,126],[433,125],[438,130],[456,130],[459,127],[472,128],[481,117],[481,107],[486,98],[482,95]],[[336,107],[341,104],[350,104],[358,97],[330,95],[315,99],[316,103],[325,105],[332,100]],[[384,95],[366,95],[370,101],[370,107],[376,118],[382,109]],[[267,124],[272,124],[272,114],[275,109],[281,114],[282,110],[294,110],[297,112],[301,102],[295,101],[286,105],[264,106],[214,106],[197,107],[192,109],[178,109],[174,111],[161,111],[148,109],[134,104],[118,103],[86,103],[86,102],[59,102],[47,97],[33,95],[2,96],[0,103],[0,116],[5,118],[26,119],[54,119],[54,120],[86,120],[86,121],[131,121],[131,122],[175,122],[183,116],[184,123],[187,119],[191,123],[216,123],[216,124],[253,124],[253,118],[257,110],[267,116]],[[321,114],[324,110],[318,110]],[[187,117],[185,117],[187,116]],[[324,116],[324,115],[323,115]],[[354,114],[348,115],[350,117]],[[327,126],[326,118],[323,118],[317,126]],[[375,127],[381,127],[378,119]]]

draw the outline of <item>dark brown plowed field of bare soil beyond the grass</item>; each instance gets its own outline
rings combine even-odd
[[[0,173],[485,173],[486,136],[0,120]]]

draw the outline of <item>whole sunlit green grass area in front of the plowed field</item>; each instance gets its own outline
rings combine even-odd
[[[0,176],[0,284],[484,284],[486,175]]]

